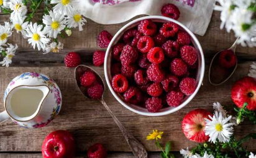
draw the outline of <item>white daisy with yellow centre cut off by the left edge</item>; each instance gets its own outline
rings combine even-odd
[[[4,22],[4,26],[0,25],[0,46],[5,45],[7,38],[12,35],[12,27],[9,22]]]

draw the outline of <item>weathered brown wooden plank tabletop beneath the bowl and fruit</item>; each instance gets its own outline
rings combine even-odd
[[[37,14],[40,16],[41,14]],[[112,112],[119,118],[127,130],[134,134],[150,152],[150,157],[160,157],[159,149],[155,147],[153,141],[145,138],[152,129],[164,131],[163,142],[172,141],[172,151],[178,156],[181,148],[194,147],[185,138],[181,131],[181,121],[183,116],[194,108],[206,108],[213,111],[213,102],[220,102],[222,105],[232,105],[231,86],[242,76],[247,75],[250,64],[256,59],[256,49],[248,47],[237,47],[239,66],[235,74],[222,86],[211,86],[208,81],[209,61],[214,53],[219,50],[229,48],[235,40],[233,33],[220,30],[221,21],[219,12],[214,12],[208,31],[204,37],[199,37],[199,42],[206,57],[206,72],[203,86],[189,105],[171,115],[149,117],[130,112],[118,103],[111,92],[105,93],[106,102]],[[0,23],[7,20],[9,15],[0,15]],[[126,22],[127,23],[127,22]],[[69,51],[80,53],[83,63],[92,66],[92,53],[98,48],[96,37],[101,30],[107,30],[112,35],[121,29],[124,24],[100,25],[88,19],[83,32],[73,32],[71,37],[61,40],[65,50],[62,53],[49,53],[42,55],[28,45],[21,35],[12,35],[11,42],[19,45],[19,50],[14,57],[14,63],[10,68],[0,67],[0,111],[4,110],[3,96],[4,90],[9,81],[22,72],[36,71],[52,77],[62,90],[63,105],[60,115],[53,120],[50,125],[42,129],[24,129],[14,125],[8,120],[0,125],[0,158],[19,157],[31,158],[42,157],[40,154],[43,139],[51,131],[66,129],[70,131],[76,139],[77,157],[86,157],[86,150],[94,143],[103,143],[109,151],[109,157],[132,158],[129,147],[126,144],[121,131],[116,126],[111,116],[107,113],[103,105],[98,101],[85,99],[75,86],[73,68],[66,68],[63,58]],[[93,67],[102,76],[103,67]],[[241,138],[244,134],[256,132],[255,125],[245,121],[242,125],[235,127],[235,136]],[[256,141],[250,141],[249,151],[256,151]]]

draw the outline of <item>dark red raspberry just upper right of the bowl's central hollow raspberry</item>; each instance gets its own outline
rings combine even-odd
[[[180,51],[180,45],[177,42],[168,40],[162,45],[163,52],[169,58],[175,58],[178,56],[178,51]]]

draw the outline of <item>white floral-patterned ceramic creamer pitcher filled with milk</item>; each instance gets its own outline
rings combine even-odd
[[[37,72],[25,72],[15,77],[4,92],[4,108],[0,122],[11,118],[25,128],[48,125],[62,107],[62,94],[50,77]]]

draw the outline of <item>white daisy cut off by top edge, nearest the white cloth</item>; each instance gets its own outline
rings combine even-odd
[[[78,0],[52,0],[51,4],[56,4],[56,6],[53,7],[54,12],[67,15],[68,13],[72,13],[73,7],[78,2]]]

